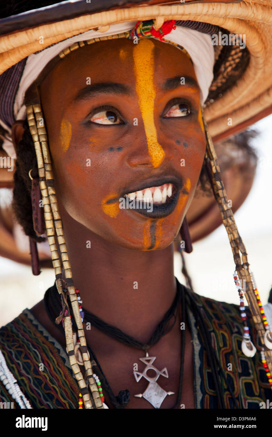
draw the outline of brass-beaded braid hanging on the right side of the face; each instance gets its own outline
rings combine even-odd
[[[244,243],[238,232],[237,225],[234,220],[234,215],[230,206],[228,206],[227,194],[224,188],[224,184],[221,178],[220,168],[217,161],[217,155],[213,147],[213,142],[210,137],[205,115],[202,111],[202,119],[206,133],[207,147],[206,147],[206,168],[210,182],[213,188],[214,197],[219,205],[220,213],[223,219],[223,224],[226,228],[227,235],[230,240],[231,249],[234,257],[234,263],[240,282],[245,284],[244,295],[247,299],[248,306],[251,310],[252,318],[257,329],[259,338],[262,343],[262,351],[266,359],[266,364],[272,373],[272,343],[269,339],[272,338],[272,333],[269,329],[269,324],[265,317],[262,305],[259,305],[258,298],[255,292],[255,284],[252,279],[252,272],[249,268],[248,254],[245,250]],[[241,252],[241,256],[240,256]],[[266,347],[266,350],[265,350]]]

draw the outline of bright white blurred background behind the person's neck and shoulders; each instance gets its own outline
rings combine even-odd
[[[265,304],[272,288],[272,115],[258,121],[251,128],[259,132],[258,137],[251,142],[258,155],[256,175],[251,191],[234,217],[260,297]],[[1,208],[10,205],[11,198],[11,189],[0,189]],[[196,205],[198,201],[196,199]],[[20,244],[28,244],[18,226],[14,227],[13,232],[17,234]],[[239,304],[232,276],[234,260],[223,225],[193,243],[193,252],[185,253],[185,260],[196,293],[218,301]],[[175,253],[174,261],[176,277],[186,284],[178,252]],[[31,308],[39,302],[54,281],[53,269],[41,268],[41,274],[33,276],[31,266],[0,257],[0,326],[14,319],[23,309]]]

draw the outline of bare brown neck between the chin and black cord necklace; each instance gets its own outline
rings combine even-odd
[[[152,333],[176,295],[173,243],[162,250],[128,250],[94,234],[65,212],[62,221],[83,307],[139,340]]]

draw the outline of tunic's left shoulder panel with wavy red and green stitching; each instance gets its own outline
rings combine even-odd
[[[77,408],[78,389],[67,354],[28,309],[0,328],[0,350],[33,408]],[[0,398],[13,400],[3,382]]]

